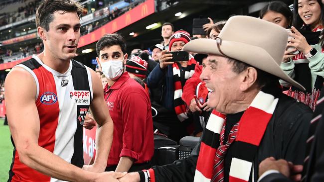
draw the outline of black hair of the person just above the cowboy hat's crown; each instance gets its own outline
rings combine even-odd
[[[274,11],[284,15],[287,19],[288,24],[291,25],[293,20],[293,13],[285,2],[279,0],[269,2],[269,4],[267,4],[260,10],[260,18],[262,19],[268,11]]]

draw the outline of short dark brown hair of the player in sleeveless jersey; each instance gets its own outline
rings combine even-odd
[[[76,0],[43,0],[36,10],[36,27],[40,26],[46,31],[49,30],[49,23],[53,21],[53,14],[56,11],[76,12],[81,18],[83,6]]]

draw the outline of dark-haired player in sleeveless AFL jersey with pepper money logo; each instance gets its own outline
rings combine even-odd
[[[44,0],[36,12],[44,51],[15,66],[6,77],[6,109],[14,146],[8,182],[116,182],[124,175],[99,173],[106,167],[113,122],[99,78],[73,60],[81,12],[74,0]],[[84,165],[82,144],[89,108],[98,122],[92,166]]]

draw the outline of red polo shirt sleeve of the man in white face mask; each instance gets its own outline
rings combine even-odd
[[[150,104],[145,92],[128,92],[121,98],[122,120],[124,123],[123,149],[119,157],[130,157],[139,160],[139,155],[145,144],[145,129]]]

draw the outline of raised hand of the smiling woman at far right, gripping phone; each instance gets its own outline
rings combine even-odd
[[[308,54],[313,48],[307,42],[306,38],[294,27],[292,26],[292,30],[295,33],[288,33],[292,38],[288,41],[287,46],[293,46],[300,52],[304,54]]]

